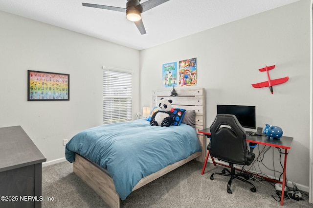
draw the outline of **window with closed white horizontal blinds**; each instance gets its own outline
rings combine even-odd
[[[103,123],[132,120],[132,72],[103,68]]]

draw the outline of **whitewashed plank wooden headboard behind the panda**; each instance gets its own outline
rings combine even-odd
[[[170,96],[170,92],[172,89],[162,89],[162,90],[154,90],[152,91],[152,105],[158,105],[161,97],[166,99],[173,100],[172,107],[173,108],[182,108],[186,110],[195,110],[196,118],[195,118],[195,128],[198,133],[199,130],[205,128],[205,92],[204,88],[179,88],[176,90],[178,96]],[[202,155],[197,158],[198,161],[204,162],[205,158],[205,136],[201,133],[198,133],[198,138],[201,144]]]

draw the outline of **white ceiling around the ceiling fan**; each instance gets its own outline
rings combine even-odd
[[[127,0],[0,0],[0,10],[142,50],[295,1],[170,0],[142,13],[145,35],[123,12],[82,6],[125,8]]]

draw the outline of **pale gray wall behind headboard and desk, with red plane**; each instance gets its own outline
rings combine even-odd
[[[256,124],[280,126],[294,137],[287,160],[287,178],[308,191],[310,151],[310,0],[301,0],[252,17],[140,51],[141,106],[149,106],[151,91],[162,88],[162,64],[197,57],[198,85],[206,91],[206,126],[217,104],[256,106]],[[272,79],[287,83],[256,89],[267,80],[258,71],[276,65]],[[181,87],[178,87],[178,93]],[[273,168],[272,150],[265,158]],[[274,148],[275,169],[281,171]],[[282,157],[283,158],[283,157]],[[282,159],[283,162],[283,159]],[[265,167],[263,173],[273,176]],[[276,176],[279,175],[276,173]]]

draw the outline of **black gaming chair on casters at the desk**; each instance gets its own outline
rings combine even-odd
[[[212,173],[210,179],[214,180],[213,175],[215,174],[230,176],[227,184],[228,193],[232,193],[230,186],[234,178],[250,184],[252,186],[250,190],[255,192],[255,186],[244,179],[249,178],[247,173],[241,172],[235,174],[234,164],[250,165],[252,163],[255,157],[253,149],[256,146],[256,144],[250,143],[250,151],[248,151],[246,131],[240,125],[236,116],[231,114],[217,114],[210,127],[210,132],[211,140],[207,149],[210,151],[211,156],[229,163],[229,166],[231,167],[231,171],[224,168],[222,172]],[[228,173],[226,173],[226,171]]]

